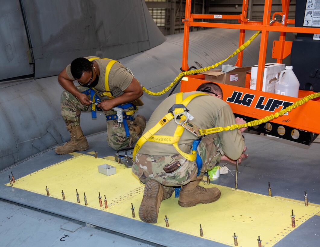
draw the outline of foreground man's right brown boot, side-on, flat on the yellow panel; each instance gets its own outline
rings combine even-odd
[[[198,185],[200,181],[201,179],[197,178],[196,181],[191,181],[182,186],[178,201],[181,207],[192,207],[198,203],[211,203],[220,198],[221,192],[218,188],[205,189]]]

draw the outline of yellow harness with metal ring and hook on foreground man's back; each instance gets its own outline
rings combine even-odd
[[[200,137],[201,135],[197,135],[197,132],[199,128],[196,125],[193,125],[188,120],[187,115],[187,108],[186,106],[190,103],[192,99],[194,99],[197,96],[203,96],[208,95],[205,93],[196,93],[188,96],[183,100],[183,92],[176,94],[176,104],[172,106],[172,108],[169,110],[169,113],[167,113],[161,120],[151,129],[149,129],[144,135],[140,137],[140,139],[137,141],[136,145],[133,149],[133,159],[137,152],[140,150],[142,145],[149,141],[149,142],[156,142],[156,143],[166,143],[166,144],[172,144],[173,147],[186,159],[190,161],[196,160],[196,151],[193,150],[191,154],[185,153],[180,150],[178,146],[178,142],[180,140],[180,137],[185,129],[192,133],[195,136]],[[174,119],[174,121],[177,123],[177,128],[173,134],[173,136],[169,135],[155,135],[157,131],[159,131],[164,125],[166,125],[169,121]]]

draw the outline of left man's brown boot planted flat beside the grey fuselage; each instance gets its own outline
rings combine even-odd
[[[62,146],[58,146],[54,149],[57,154],[68,154],[74,151],[84,151],[89,148],[87,139],[83,135],[80,126],[67,125],[67,129],[70,132],[71,140],[64,143]]]

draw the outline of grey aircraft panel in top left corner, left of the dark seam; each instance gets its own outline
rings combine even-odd
[[[18,0],[2,1],[0,8],[0,80],[33,73],[28,38]]]

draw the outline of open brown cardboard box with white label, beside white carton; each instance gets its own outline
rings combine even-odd
[[[205,75],[205,81],[212,81],[244,88],[245,76],[249,70],[251,70],[251,67],[238,67],[230,70],[228,73],[224,73],[221,72],[221,69],[214,69],[204,71],[202,74]]]

